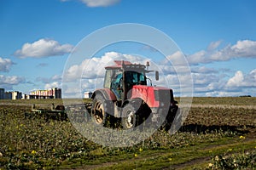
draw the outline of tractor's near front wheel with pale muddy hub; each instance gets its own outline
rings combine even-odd
[[[137,126],[137,110],[131,105],[125,105],[122,111],[122,126],[124,129],[131,129]]]

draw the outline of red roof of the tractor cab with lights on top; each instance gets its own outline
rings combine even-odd
[[[115,65],[106,66],[106,70],[124,69],[124,70],[145,70],[146,65],[132,64],[130,61],[114,60]],[[148,64],[149,65],[149,64]]]

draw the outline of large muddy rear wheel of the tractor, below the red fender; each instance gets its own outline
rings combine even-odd
[[[91,107],[91,119],[98,125],[104,125],[107,117],[107,101],[101,94],[96,94]]]

